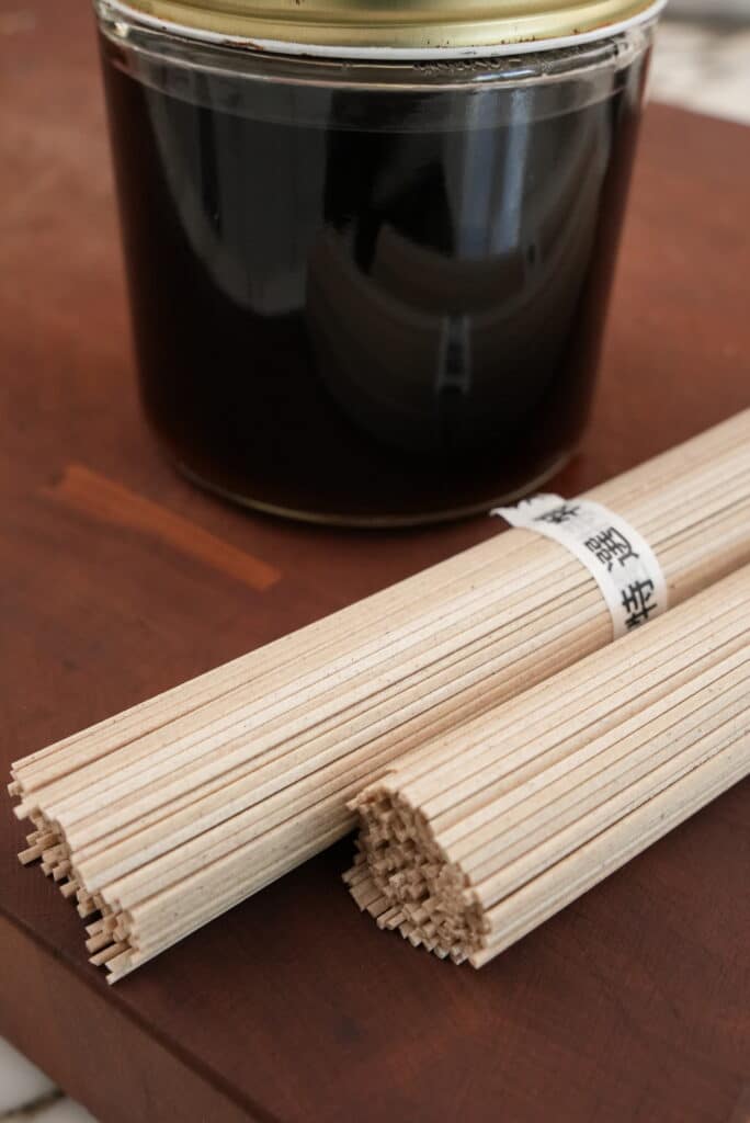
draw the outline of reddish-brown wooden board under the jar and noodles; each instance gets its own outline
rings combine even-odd
[[[176,478],[136,401],[88,4],[6,6],[0,53],[4,766],[496,530],[311,530]],[[749,200],[750,131],[650,111],[564,492],[750,404]],[[103,1121],[750,1119],[747,783],[478,974],[362,917],[346,842],[108,988],[21,837],[4,803],[0,1032]]]

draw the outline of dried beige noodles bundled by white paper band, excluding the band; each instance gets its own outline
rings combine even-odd
[[[673,604],[690,596],[750,560],[750,411],[589,497],[649,540]],[[399,755],[611,638],[562,546],[494,535],[19,760],[21,860],[75,898],[121,978],[342,837]]]

